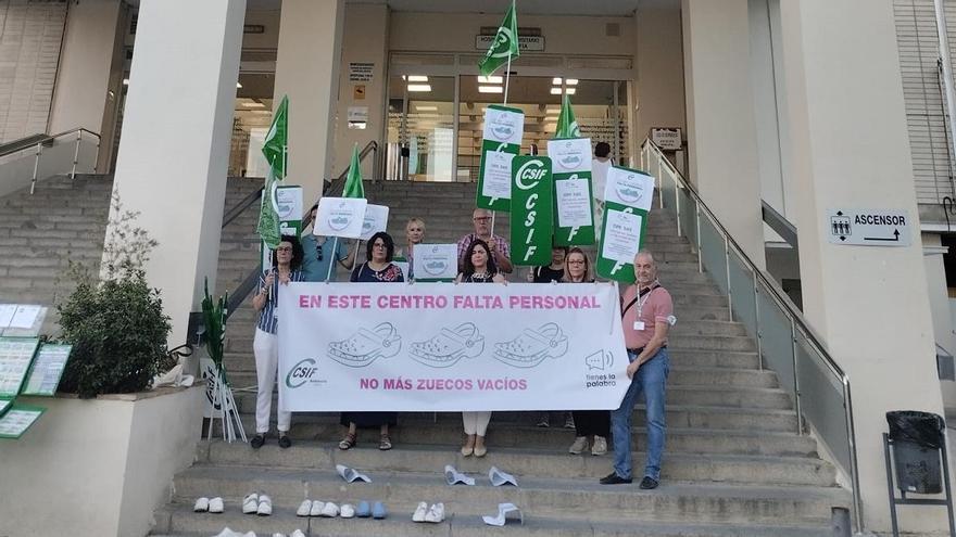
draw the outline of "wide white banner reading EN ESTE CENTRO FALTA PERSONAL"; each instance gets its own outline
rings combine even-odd
[[[619,308],[608,283],[292,283],[279,293],[279,407],[617,408]]]

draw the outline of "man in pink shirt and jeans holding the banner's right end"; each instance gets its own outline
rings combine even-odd
[[[664,395],[670,361],[667,357],[667,332],[674,323],[670,293],[657,281],[657,264],[647,251],[634,256],[637,282],[625,291],[622,328],[631,380],[624,400],[611,412],[614,436],[614,472],[601,478],[602,485],[631,483],[631,417],[634,399],[642,393],[647,414],[647,460],[641,488],[656,488],[661,482],[664,455]]]

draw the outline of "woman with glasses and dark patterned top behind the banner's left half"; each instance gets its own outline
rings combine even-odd
[[[392,263],[395,253],[395,243],[391,235],[379,231],[368,240],[366,248],[367,261],[352,271],[352,282],[378,282],[398,283],[405,281],[402,269]],[[358,427],[380,427],[378,449],[382,451],[392,448],[389,437],[389,426],[398,422],[398,412],[342,412],[340,423],[349,427],[344,438],[339,443],[339,449],[351,449],[357,443]]]

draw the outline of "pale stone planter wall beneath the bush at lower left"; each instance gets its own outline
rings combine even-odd
[[[78,399],[21,397],[47,411],[0,440],[0,535],[138,537],[192,463],[202,386]]]

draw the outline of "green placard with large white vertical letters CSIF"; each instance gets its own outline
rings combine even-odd
[[[542,266],[551,263],[553,197],[551,158],[526,155],[512,159],[513,264]]]

